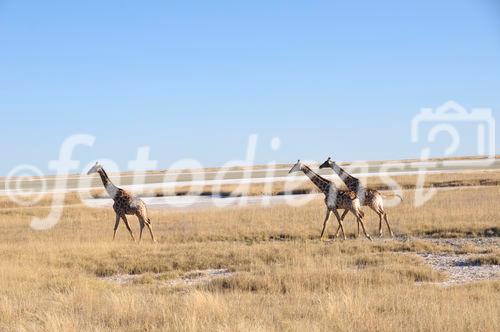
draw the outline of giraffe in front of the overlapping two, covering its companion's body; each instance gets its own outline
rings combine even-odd
[[[321,239],[323,239],[323,235],[325,234],[326,225],[328,223],[328,219],[333,212],[337,221],[339,222],[339,228],[342,230],[342,235],[344,240],[346,239],[344,226],[342,225],[342,219],[337,210],[344,209],[344,214],[347,214],[349,211],[352,212],[358,221],[358,224],[361,224],[363,228],[363,232],[370,241],[372,240],[370,235],[366,232],[365,225],[363,224],[364,213],[361,211],[361,204],[359,202],[356,193],[350,190],[340,190],[335,184],[318,174],[316,174],[311,168],[307,165],[304,165],[299,161],[292,167],[289,173],[303,172],[311,181],[318,187],[319,190],[325,195],[325,205],[326,205],[326,217],[323,222],[323,230],[321,231]],[[338,236],[335,234],[335,236]]]

